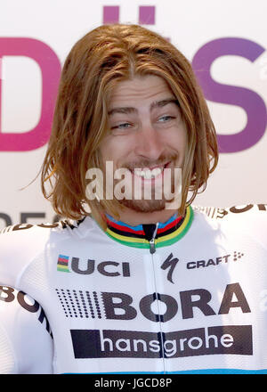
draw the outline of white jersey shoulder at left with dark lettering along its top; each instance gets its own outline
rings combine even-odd
[[[20,224],[5,227],[0,233],[0,284],[20,288],[20,274],[31,261],[53,242],[69,241],[86,232],[80,221],[61,220],[54,224]]]

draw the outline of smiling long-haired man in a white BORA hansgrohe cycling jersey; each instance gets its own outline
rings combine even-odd
[[[192,208],[217,159],[190,63],[163,37],[114,24],[74,45],[42,171],[74,221],[0,235],[4,298],[27,292],[49,320],[45,369],[266,371],[266,207]]]

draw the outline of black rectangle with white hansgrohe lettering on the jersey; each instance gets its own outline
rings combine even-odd
[[[251,325],[219,325],[172,332],[70,330],[75,358],[177,358],[253,355]]]

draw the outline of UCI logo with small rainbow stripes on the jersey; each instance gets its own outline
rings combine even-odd
[[[98,271],[99,274],[109,277],[130,276],[129,263],[105,260],[97,264],[95,260],[90,258],[85,260],[80,257],[69,257],[66,255],[59,255],[57,270],[64,273],[74,272],[81,275],[90,275],[94,271]]]

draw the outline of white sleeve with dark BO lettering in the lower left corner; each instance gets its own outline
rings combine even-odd
[[[0,286],[0,374],[53,373],[53,336],[41,306]]]

